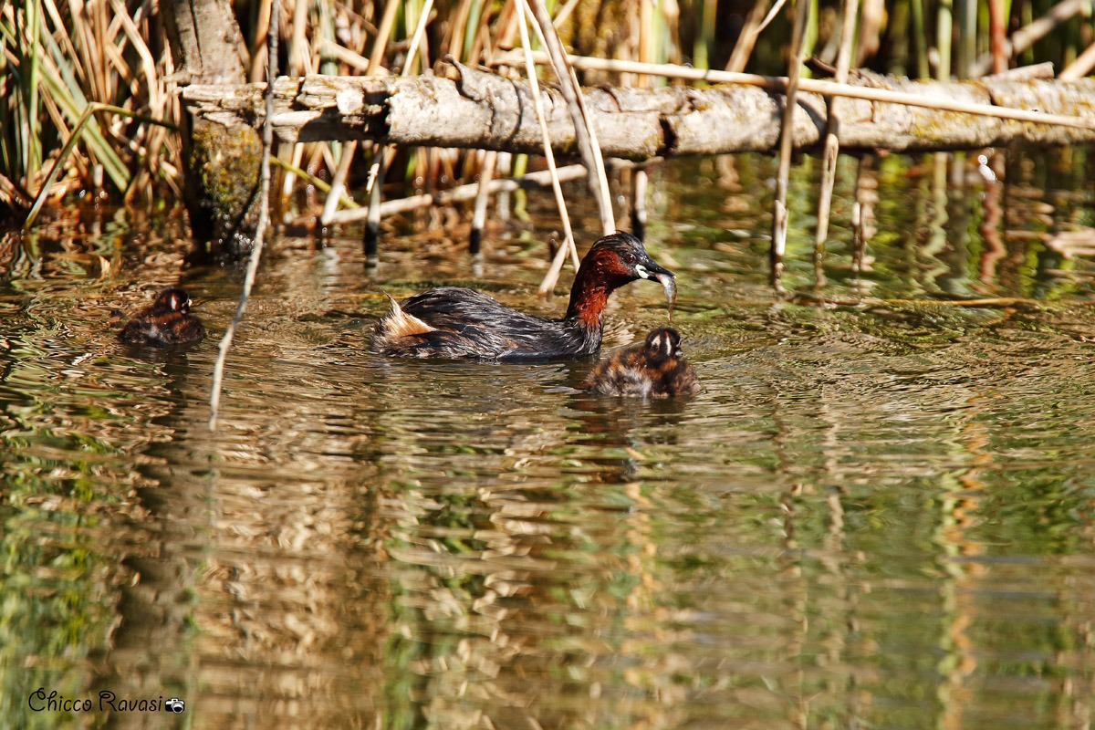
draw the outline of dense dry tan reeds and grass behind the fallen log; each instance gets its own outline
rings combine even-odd
[[[486,65],[511,49],[519,35],[512,0],[279,1],[281,57],[285,72],[290,76],[420,72],[434,68],[446,55],[469,65]],[[788,10],[775,13],[773,22],[757,32],[754,16],[759,13],[749,14],[751,3],[739,4],[572,0],[557,2],[554,16],[564,43],[578,54],[647,62],[696,63],[698,59],[706,59],[712,68],[748,65],[762,72],[774,71],[785,56]],[[948,5],[902,1],[885,4],[886,14],[873,15],[871,22],[860,19],[857,62],[897,72],[926,69],[937,76],[947,63],[930,67],[922,55],[937,58],[942,54],[949,59],[953,54],[958,59],[958,50],[929,48],[923,43],[925,37],[942,38],[938,30],[957,22],[944,15]],[[1039,55],[1058,63],[1080,57],[1095,40],[1090,24],[1081,23],[1077,15],[1085,5],[1069,4],[1064,10],[1060,5],[1038,19],[1031,8],[1014,3],[1011,18],[1034,19],[1030,27],[1037,28],[1037,37],[1047,40],[1039,46],[1031,40],[1031,32],[1019,28],[1012,34],[1013,43],[991,47],[1023,53],[1025,56],[1018,60],[1025,62],[1040,60]],[[53,161],[60,157],[77,121],[93,103],[120,107],[128,115],[99,112],[92,116],[70,157],[62,161],[60,174],[49,183],[48,198],[57,200],[78,189],[124,196],[130,204],[170,200],[180,195],[177,135],[146,120],[175,123],[180,114],[172,81],[175,69],[158,8],[153,0],[21,0],[0,5],[0,208],[18,219],[25,217],[47,183]],[[250,77],[258,79],[265,67],[269,5],[254,2],[238,3],[237,8],[243,11],[239,21],[246,40],[241,57]],[[820,4],[819,33],[809,40],[808,54],[825,58],[835,53],[839,44],[832,40],[841,32],[839,8],[835,2]],[[715,13],[724,15],[716,18]],[[405,68],[411,37],[419,25],[425,33],[411,68]],[[747,34],[738,43],[742,26],[747,26]],[[981,28],[965,28],[959,22],[956,36],[961,43],[957,45],[984,53],[965,59],[967,67],[956,72],[972,73],[984,65],[990,48],[988,32],[983,24]],[[970,34],[972,42],[967,40]],[[751,55],[741,53],[739,46],[752,46]],[[735,48],[739,53],[735,54]],[[996,61],[999,67],[1000,59]],[[1011,62],[1014,65],[1016,59]],[[633,74],[602,71],[587,71],[583,81],[643,83]],[[374,154],[369,146],[314,143],[283,151],[279,157],[292,160],[309,174],[331,179],[344,154],[360,158],[360,164],[355,161],[341,165],[349,173],[347,188],[360,192],[365,175],[354,175],[355,171],[369,169]],[[390,178],[411,181],[416,192],[434,193],[474,178],[481,164],[482,155],[475,153],[404,150],[385,170]],[[522,164],[516,161],[515,167]],[[293,196],[303,188],[293,187],[295,181],[285,181],[284,196]],[[319,206],[322,200],[301,194],[291,197],[288,205]]]

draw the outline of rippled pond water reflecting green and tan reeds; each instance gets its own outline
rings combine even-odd
[[[1022,161],[1002,186],[963,174],[982,186],[964,196],[946,160],[927,178],[864,164],[877,230],[854,269],[835,206],[829,289],[915,301],[821,309],[763,286],[768,165],[653,184],[705,386],[682,402],[583,393],[590,361],[365,352],[381,288],[557,311],[532,298],[533,243],[495,241],[484,279],[451,242],[393,240],[366,280],[354,240],[283,241],[210,433],[234,273],[186,269],[212,336],[150,354],[104,323],[174,282],[185,240],[157,231],[177,222],[4,239],[12,727],[172,721],[35,712],[38,687],[177,696],[194,727],[1085,727],[1090,266],[1038,235],[1090,196],[1036,199]],[[808,227],[789,243],[787,282],[808,287]],[[621,339],[665,316],[635,289],[609,312]]]

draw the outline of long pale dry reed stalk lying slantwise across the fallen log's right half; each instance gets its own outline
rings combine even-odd
[[[615,71],[631,73],[648,73],[671,79],[688,79],[691,81],[706,81],[708,83],[733,83],[742,86],[756,86],[770,91],[786,92],[787,80],[783,77],[765,77],[756,73],[733,73],[730,71],[694,69],[688,66],[677,66],[676,63],[639,63],[637,61],[621,61],[609,58],[592,58],[589,56],[570,56],[570,62],[575,68],[589,69],[593,71]],[[548,62],[548,57],[543,54],[534,54],[533,59],[538,63]],[[514,57],[507,56],[495,61],[498,66],[512,65]],[[902,104],[904,106],[919,106],[927,109],[941,109],[944,112],[961,112],[963,114],[973,114],[976,116],[995,117],[998,119],[1012,119],[1014,121],[1029,121],[1033,124],[1045,124],[1058,127],[1073,127],[1075,129],[1095,129],[1095,119],[1087,117],[1067,116],[1063,114],[1044,114],[1041,112],[1029,112],[1027,109],[1015,109],[1006,106],[993,106],[992,104],[971,104],[967,102],[956,102],[949,99],[933,96],[926,99],[915,94],[907,94],[900,91],[888,89],[873,89],[869,86],[856,86],[851,84],[840,84],[833,81],[820,81],[818,79],[799,79],[799,91],[822,96],[843,96],[846,99],[862,99],[868,102],[881,102],[885,104]]]

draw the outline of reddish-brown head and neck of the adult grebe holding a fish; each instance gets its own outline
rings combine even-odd
[[[577,321],[588,329],[600,328],[609,294],[635,279],[672,277],[661,268],[631,233],[604,236],[581,259],[570,287],[566,321]]]

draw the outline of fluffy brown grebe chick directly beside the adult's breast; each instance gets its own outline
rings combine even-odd
[[[672,327],[658,327],[645,343],[616,350],[601,361],[589,373],[585,386],[601,395],[694,395],[700,392],[700,381],[682,357],[680,334]]]

